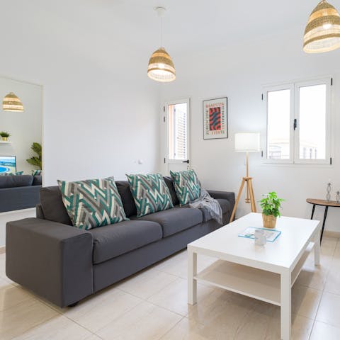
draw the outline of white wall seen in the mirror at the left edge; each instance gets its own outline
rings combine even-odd
[[[24,112],[0,110],[0,130],[11,134],[11,144],[0,144],[1,156],[16,156],[17,171],[31,174],[38,169],[26,162],[36,155],[30,146],[33,142],[41,143],[42,132],[42,88],[38,85],[0,77],[0,98],[13,92],[23,103]]]

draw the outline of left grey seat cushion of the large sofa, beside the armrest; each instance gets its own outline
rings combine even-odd
[[[162,239],[156,222],[123,221],[89,230],[94,237],[94,263],[101,263]]]

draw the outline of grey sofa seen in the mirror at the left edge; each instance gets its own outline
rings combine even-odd
[[[0,176],[0,212],[35,208],[41,176]]]

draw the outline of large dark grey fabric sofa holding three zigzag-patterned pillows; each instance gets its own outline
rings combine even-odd
[[[220,227],[208,212],[179,208],[171,179],[165,178],[175,208],[137,218],[127,181],[117,181],[130,221],[77,229],[59,188],[41,188],[37,218],[6,225],[6,275],[60,307],[74,305]],[[210,191],[229,222],[234,193]]]

